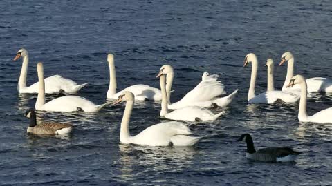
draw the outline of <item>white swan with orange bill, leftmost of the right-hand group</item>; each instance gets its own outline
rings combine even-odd
[[[299,100],[299,96],[282,91],[268,91],[261,94],[255,95],[255,85],[256,85],[256,76],[258,70],[258,61],[255,54],[248,54],[246,59],[244,60],[243,67],[246,67],[248,63],[252,63],[251,70],[251,79],[250,79],[250,87],[248,92],[248,102],[249,103],[275,103],[278,99],[286,102],[293,103]]]

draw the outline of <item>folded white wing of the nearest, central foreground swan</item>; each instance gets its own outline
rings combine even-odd
[[[147,127],[145,130],[131,138],[132,143],[138,145],[167,146],[171,145],[172,136],[192,134],[183,123],[171,121]]]

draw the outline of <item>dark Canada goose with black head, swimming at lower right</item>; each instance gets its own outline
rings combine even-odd
[[[288,162],[294,161],[300,152],[296,152],[291,147],[267,147],[259,149],[257,152],[250,134],[242,134],[239,141],[247,143],[246,157],[254,161],[265,162]]]

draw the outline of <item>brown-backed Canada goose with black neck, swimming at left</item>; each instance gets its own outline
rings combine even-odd
[[[26,117],[30,118],[30,125],[26,132],[38,135],[62,135],[69,134],[73,130],[73,125],[66,123],[46,122],[37,125],[36,113],[34,110],[26,111]]]

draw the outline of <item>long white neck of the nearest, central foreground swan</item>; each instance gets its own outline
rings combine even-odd
[[[129,138],[131,136],[129,132],[129,121],[130,121],[131,112],[133,110],[133,102],[134,99],[127,101],[121,121],[120,141],[124,143],[130,143]]]

